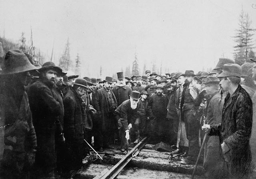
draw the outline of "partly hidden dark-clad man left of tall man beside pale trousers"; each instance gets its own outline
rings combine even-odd
[[[179,120],[178,114],[175,108],[176,90],[178,89],[177,80],[171,79],[171,82],[166,84],[166,88],[169,91],[167,115],[166,118],[170,120],[170,144],[174,145],[177,142]]]

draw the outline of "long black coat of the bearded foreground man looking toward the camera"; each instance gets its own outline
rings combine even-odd
[[[37,137],[36,164],[47,172],[56,167],[55,133],[60,135],[62,127],[60,103],[52,93],[55,88],[50,80],[39,80],[28,88],[28,99]]]

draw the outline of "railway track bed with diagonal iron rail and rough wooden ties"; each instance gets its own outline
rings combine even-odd
[[[74,179],[156,179],[156,178],[180,178],[189,179],[192,175],[194,165],[181,165],[181,157],[172,158],[166,152],[145,149],[149,139],[145,137],[128,153],[116,149],[109,149],[100,153],[103,160],[92,163],[89,167],[82,168]],[[105,155],[114,153],[114,156]],[[198,166],[194,178],[203,177],[202,165]]]

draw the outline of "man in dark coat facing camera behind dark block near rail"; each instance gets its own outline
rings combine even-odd
[[[162,85],[157,85],[155,88],[156,93],[148,97],[148,112],[150,122],[154,127],[151,134],[156,136],[158,142],[168,142],[169,138],[167,137],[170,137],[167,136],[170,131],[170,123],[166,119],[168,98],[163,95],[164,87]]]

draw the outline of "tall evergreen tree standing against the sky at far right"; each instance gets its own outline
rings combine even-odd
[[[238,26],[236,29],[236,35],[233,37],[234,41],[237,43],[234,52],[235,62],[239,65],[242,65],[244,62],[248,61],[248,55],[254,44],[252,42],[252,36],[256,29],[251,27],[252,21],[244,10],[241,11],[238,18]]]

